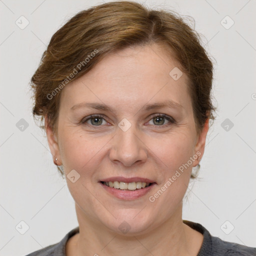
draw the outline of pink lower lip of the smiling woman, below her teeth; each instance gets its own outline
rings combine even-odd
[[[114,195],[115,197],[123,200],[133,200],[137,199],[146,193],[148,193],[151,188],[156,184],[152,183],[150,186],[144,187],[144,188],[139,188],[136,190],[123,190],[123,189],[116,189],[107,185],[102,184],[99,182],[99,184],[110,194]]]

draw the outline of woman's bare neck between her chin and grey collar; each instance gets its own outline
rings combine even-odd
[[[79,233],[75,255],[197,255],[201,241],[195,247],[194,235],[199,234],[182,222],[182,202],[175,213],[157,228],[138,235],[120,235],[86,219],[75,204]],[[195,234],[195,232],[197,234]],[[202,236],[202,235],[201,235]],[[198,241],[198,239],[197,239]]]

